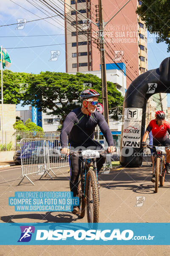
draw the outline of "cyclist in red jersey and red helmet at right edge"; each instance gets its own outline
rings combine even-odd
[[[163,111],[157,111],[155,113],[155,119],[151,120],[142,139],[142,146],[146,147],[146,139],[150,131],[153,134],[153,145],[161,144],[164,147],[170,147],[170,124],[165,121],[165,113]],[[167,134],[167,132],[169,134]],[[155,150],[153,150],[155,151]],[[166,150],[166,164],[165,168],[167,174],[170,174],[170,149]],[[153,175],[152,182],[155,182],[155,175]]]

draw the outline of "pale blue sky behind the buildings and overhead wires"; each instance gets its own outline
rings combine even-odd
[[[47,9],[42,13],[36,7],[32,6],[29,0],[1,0],[0,1],[0,25],[17,23],[17,19],[25,19],[26,21],[37,20],[47,17]],[[32,2],[37,3],[32,0]],[[55,0],[57,8],[61,8],[63,13],[63,5]],[[25,9],[23,9],[22,7]],[[40,8],[39,6],[37,6]],[[56,15],[50,11],[48,15]],[[44,20],[37,20],[26,23],[22,29],[17,28],[17,24],[11,26],[0,27],[0,45],[7,49],[12,65],[10,70],[14,72],[26,72],[38,74],[41,71],[65,72],[65,35],[64,21],[61,17],[54,17]],[[31,37],[30,37],[31,35]],[[36,36],[32,36],[36,35]],[[43,36],[40,36],[43,35]],[[8,37],[7,37],[8,36]],[[25,37],[19,37],[25,36]],[[170,56],[167,52],[167,45],[164,43],[156,43],[155,37],[148,34],[148,70],[159,67],[164,58]],[[44,47],[32,47],[32,46]],[[17,47],[32,47],[23,49],[10,49]],[[57,61],[50,61],[51,51],[59,51]],[[168,95],[168,106],[170,106],[170,95]],[[28,109],[28,106],[21,107],[17,105],[17,110]]]

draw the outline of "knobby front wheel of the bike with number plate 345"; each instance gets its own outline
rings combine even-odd
[[[89,170],[86,179],[87,217],[89,223],[99,222],[99,189],[93,170]]]

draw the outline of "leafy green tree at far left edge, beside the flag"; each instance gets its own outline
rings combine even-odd
[[[28,89],[28,77],[31,74],[3,70],[3,103],[19,104]],[[1,99],[1,87],[0,87]]]

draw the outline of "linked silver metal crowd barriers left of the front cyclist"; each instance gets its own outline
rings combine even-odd
[[[28,175],[51,175],[53,169],[69,166],[68,157],[60,153],[57,139],[22,139],[20,142],[20,159],[22,180],[26,177],[33,185]],[[53,179],[51,177],[51,179]],[[18,185],[20,185],[20,183]]]

